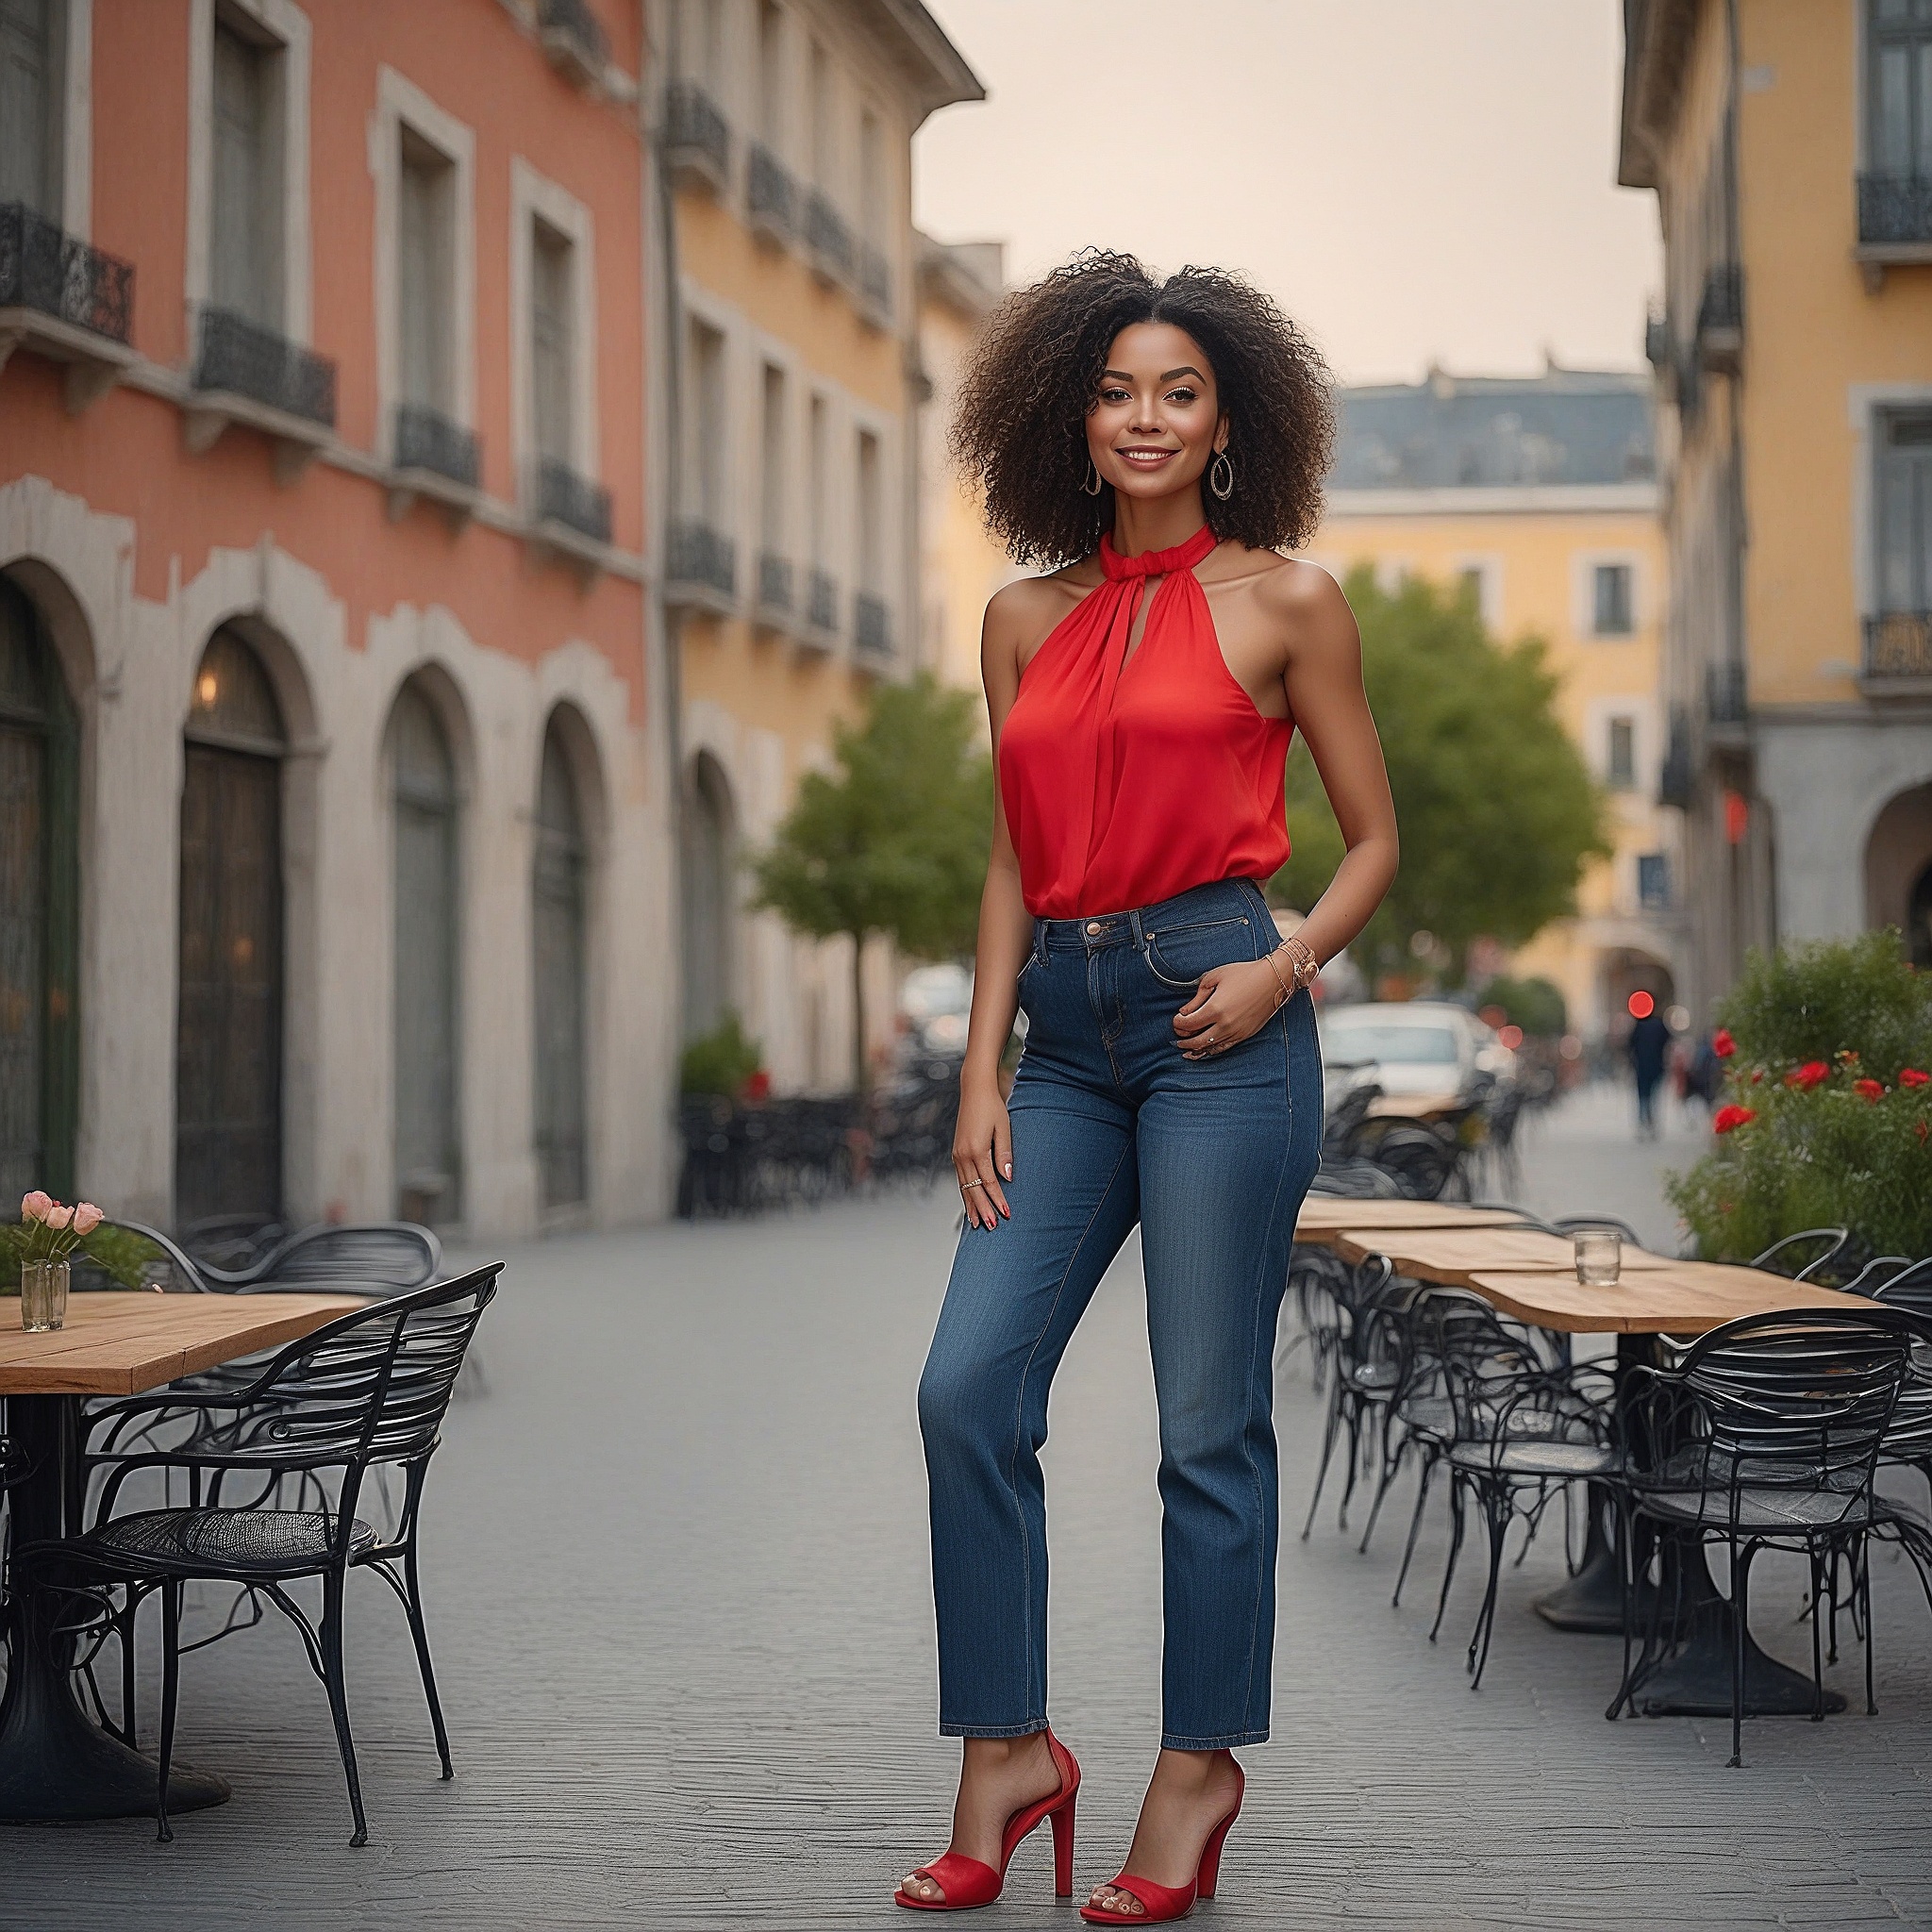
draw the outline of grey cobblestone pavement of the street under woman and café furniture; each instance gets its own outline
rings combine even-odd
[[[1627,1134],[1607,1107],[1602,1130],[1582,1111],[1540,1126],[1524,1192],[1634,1188],[1652,1151]],[[365,1851],[346,1843],[321,1689],[265,1625],[184,1667],[180,1752],[234,1801],[182,1818],[170,1847],[139,1820],[0,1833],[0,1924],[902,1924],[887,1893],[943,1847],[956,1762],[933,1735],[912,1408],[951,1221],[945,1198],[895,1200],[514,1252],[487,1389],[454,1412],[429,1490],[456,1781],[437,1781],[408,1638],[371,1582],[350,1619]],[[1047,1449],[1082,1888],[1126,1847],[1157,1729],[1138,1302],[1130,1248],[1066,1358]],[[1279,1408],[1298,1519],[1304,1370]],[[1615,1640],[1528,1611],[1559,1575],[1553,1530],[1507,1573],[1472,1694],[1474,1565],[1432,1646],[1439,1524],[1399,1611],[1395,1528],[1366,1557],[1327,1511],[1306,1544],[1291,1528],[1275,1741],[1244,1754],[1248,1810],[1200,1924],[1932,1924],[1932,1619],[1895,1565],[1876,1565],[1880,1714],[1752,1723],[1731,1772],[1723,1723],[1604,1721]],[[1804,1662],[1795,1580],[1760,1578],[1760,1636]],[[1857,1679],[1847,1648],[1835,1683]],[[978,1922],[1078,1924],[1051,1901],[1043,1833]]]

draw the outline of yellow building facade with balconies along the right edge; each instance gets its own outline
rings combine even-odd
[[[1689,991],[1901,925],[1932,964],[1932,6],[1629,0],[1658,195]]]

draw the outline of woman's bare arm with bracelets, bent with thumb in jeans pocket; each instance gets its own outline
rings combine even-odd
[[[1314,564],[1271,570],[1256,587],[1271,628],[1287,638],[1281,684],[1335,810],[1347,856],[1296,937],[1327,964],[1368,925],[1395,879],[1395,800],[1381,740],[1362,690],[1362,636],[1341,585]],[[1188,1057],[1221,1053],[1277,1010],[1287,952],[1221,966],[1202,978],[1175,1034]]]

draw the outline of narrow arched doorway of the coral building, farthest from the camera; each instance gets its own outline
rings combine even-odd
[[[583,798],[558,715],[543,732],[537,782],[535,935],[537,1198],[570,1208],[589,1198],[585,1041],[589,846]]]

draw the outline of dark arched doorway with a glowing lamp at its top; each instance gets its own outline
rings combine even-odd
[[[282,707],[232,626],[195,672],[182,779],[174,1215],[282,1211]]]

